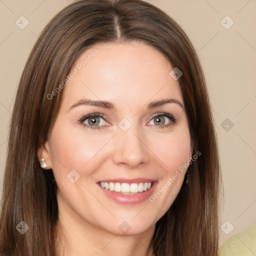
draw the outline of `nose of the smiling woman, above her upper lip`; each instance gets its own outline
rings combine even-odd
[[[146,139],[137,129],[118,130],[114,141],[113,161],[117,165],[135,168],[149,162]]]

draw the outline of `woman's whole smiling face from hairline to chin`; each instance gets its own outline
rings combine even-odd
[[[95,45],[74,62],[40,152],[70,221],[137,234],[171,206],[186,170],[180,166],[191,157],[172,68],[138,42]]]

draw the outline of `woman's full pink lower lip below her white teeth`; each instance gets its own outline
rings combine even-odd
[[[121,203],[121,204],[138,204],[145,200],[147,200],[153,193],[154,188],[156,186],[156,181],[153,182],[153,185],[143,192],[138,192],[136,194],[121,194],[119,192],[110,191],[108,189],[105,189],[99,185],[99,187],[102,189],[102,191],[105,193],[105,195],[115,202]]]

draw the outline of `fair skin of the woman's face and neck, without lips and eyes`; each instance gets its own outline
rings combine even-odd
[[[182,106],[172,102],[146,107],[166,98],[184,105],[182,94],[178,81],[169,75],[173,67],[164,55],[142,42],[94,45],[72,68],[95,48],[99,52],[63,88],[48,140],[38,149],[59,188],[58,245],[63,248],[61,255],[147,255],[155,223],[177,196],[185,171],[154,202],[147,199],[138,204],[113,201],[96,182],[144,177],[157,181],[157,191],[189,160],[190,136]],[[69,109],[80,99],[109,101],[114,108],[79,105]],[[152,115],[162,112],[173,115],[176,122],[160,115],[169,124],[160,127]],[[100,129],[87,129],[88,119],[79,123],[90,113],[104,115],[105,120],[97,119]],[[123,118],[131,123],[127,131],[118,127]],[[67,178],[72,169],[80,175],[74,183]],[[123,221],[130,226],[125,234],[118,228]]]

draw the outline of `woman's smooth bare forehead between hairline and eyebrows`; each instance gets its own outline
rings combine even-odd
[[[142,42],[94,45],[74,61],[70,72],[75,75],[62,103],[89,98],[124,106],[166,97],[183,102],[178,82],[169,75],[172,68],[161,52]]]

